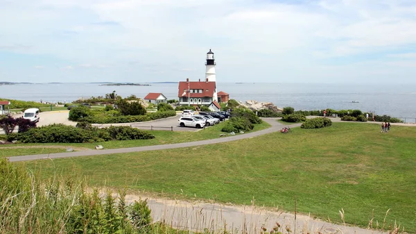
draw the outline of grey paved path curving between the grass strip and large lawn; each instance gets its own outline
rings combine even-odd
[[[10,162],[20,162],[20,161],[28,161],[28,160],[38,160],[38,159],[49,159],[49,158],[72,158],[72,157],[80,157],[80,156],[96,156],[96,155],[103,155],[103,154],[112,154],[112,153],[131,153],[131,152],[141,152],[141,151],[153,151],[153,150],[160,150],[160,149],[177,149],[177,148],[184,148],[184,147],[196,147],[205,144],[217,144],[223,142],[232,142],[234,140],[241,140],[247,139],[251,137],[257,137],[259,135],[264,135],[267,133],[275,133],[279,131],[283,125],[276,121],[276,118],[262,118],[268,124],[271,125],[270,128],[263,129],[261,131],[256,131],[252,133],[245,133],[241,135],[234,135],[229,137],[220,137],[210,140],[200,140],[196,142],[183,142],[177,144],[158,144],[152,145],[147,147],[129,147],[129,148],[119,148],[119,149],[103,149],[103,150],[94,150],[94,151],[75,151],[75,152],[68,152],[68,153],[48,153],[48,154],[37,154],[37,155],[29,155],[29,156],[15,156],[9,157],[8,160]],[[292,124],[290,126],[300,126],[300,124]]]

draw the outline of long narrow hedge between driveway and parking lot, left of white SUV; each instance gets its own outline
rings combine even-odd
[[[146,115],[121,115],[121,116],[98,116],[90,115],[83,119],[78,119],[81,122],[88,122],[90,124],[116,124],[116,123],[134,123],[146,122],[156,119],[164,119],[167,117],[176,116],[175,110],[148,112]]]

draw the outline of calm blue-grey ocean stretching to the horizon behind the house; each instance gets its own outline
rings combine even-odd
[[[239,101],[269,101],[280,108],[323,110],[358,109],[376,115],[416,118],[416,84],[317,84],[317,83],[217,83],[218,92]],[[0,97],[24,101],[70,102],[81,97],[105,96],[116,91],[122,97],[162,92],[177,99],[177,83],[150,86],[105,86],[97,83],[40,83],[0,85]],[[358,103],[353,103],[358,101]]]

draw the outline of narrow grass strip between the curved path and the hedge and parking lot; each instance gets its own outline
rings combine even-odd
[[[97,144],[103,145],[105,149],[125,148],[125,147],[143,147],[156,144],[174,144],[182,142],[192,142],[196,140],[207,140],[220,137],[221,129],[224,122],[202,129],[198,132],[184,132],[184,131],[148,131],[155,135],[155,139],[151,140],[113,140],[110,142],[99,143],[51,143],[51,144],[15,144],[15,146],[65,146],[65,147],[83,147],[94,149]],[[260,131],[269,128],[270,124],[263,122],[261,124],[254,124],[252,131]],[[239,134],[239,133],[236,133]],[[14,145],[0,145],[1,147],[12,147]]]

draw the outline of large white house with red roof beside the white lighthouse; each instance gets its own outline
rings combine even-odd
[[[205,105],[209,106],[217,101],[215,81],[180,81],[177,97],[180,105]]]

